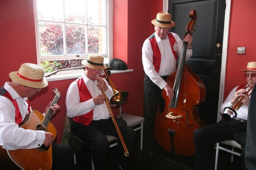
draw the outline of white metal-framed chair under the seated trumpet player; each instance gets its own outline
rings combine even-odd
[[[224,146],[220,146],[220,144],[226,144],[226,145],[229,145],[229,146],[232,146],[231,150],[228,149],[228,148],[225,148]],[[241,145],[238,144],[236,141],[234,140],[225,140],[223,142],[217,142],[216,143],[216,156],[215,156],[215,168],[214,170],[217,170],[218,168],[218,156],[219,156],[219,150],[224,150],[226,152],[229,152],[231,153],[231,162],[233,162],[233,155],[238,155],[240,156],[241,153],[239,152],[235,152],[234,151],[234,148],[238,148],[238,149],[241,149]]]

